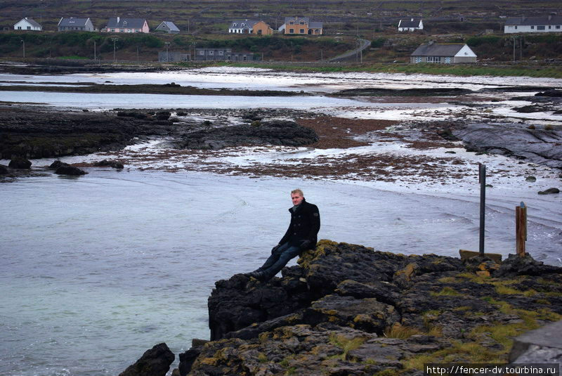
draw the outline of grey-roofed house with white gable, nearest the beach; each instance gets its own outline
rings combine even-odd
[[[410,63],[474,63],[476,53],[469,46],[462,43],[434,43],[421,44],[410,55]]]

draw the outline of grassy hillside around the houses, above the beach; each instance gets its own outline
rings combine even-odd
[[[356,43],[357,35],[373,41],[362,60],[367,63],[407,62],[419,44],[435,40],[465,42],[483,62],[514,60],[512,35],[502,33],[507,16],[562,13],[559,0],[438,0],[438,1],[257,1],[257,0],[3,0],[1,26],[11,27],[22,17],[31,17],[44,32],[0,32],[0,58],[93,58],[113,60],[109,34],[55,32],[61,16],[90,17],[101,28],[110,17],[148,19],[152,30],[162,20],[181,29],[166,34],[124,35],[115,43],[117,60],[157,60],[169,42],[171,51],[192,51],[194,46],[232,47],[251,51],[264,60],[317,61],[342,53]],[[305,15],[324,22],[323,37],[247,37],[228,34],[231,20],[260,19],[272,27],[287,15]],[[404,17],[423,17],[424,30],[398,33]],[[485,31],[488,30],[487,33]],[[491,32],[491,33],[490,33]],[[562,34],[523,35],[516,39],[515,60],[562,60]]]

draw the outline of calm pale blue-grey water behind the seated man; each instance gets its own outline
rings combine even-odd
[[[209,337],[214,282],[259,266],[285,232],[295,187],[320,207],[320,238],[478,249],[473,196],[159,171],[20,179],[0,186],[0,375],[117,375],[159,342],[177,364],[193,337]],[[489,195],[490,252],[513,252],[518,199]],[[559,264],[561,203],[527,203],[529,251]]]

